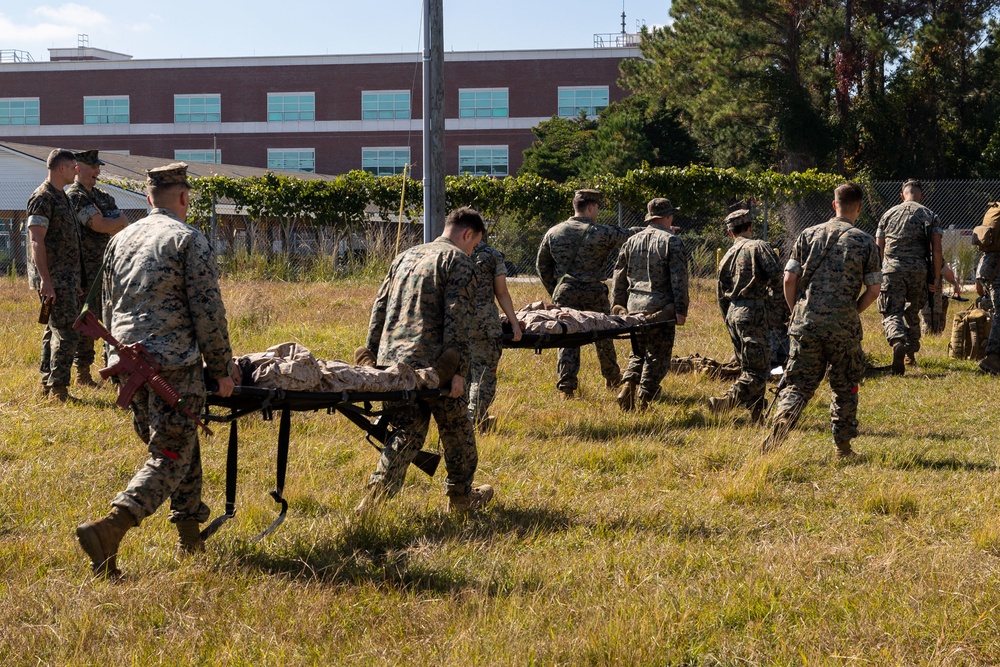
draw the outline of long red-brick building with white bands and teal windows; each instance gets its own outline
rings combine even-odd
[[[0,63],[0,140],[340,174],[421,170],[421,55]],[[625,96],[638,48],[445,54],[446,173],[504,176],[531,128]]]

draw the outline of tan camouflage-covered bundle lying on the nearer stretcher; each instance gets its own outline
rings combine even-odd
[[[400,362],[379,369],[344,361],[326,361],[317,359],[298,343],[280,343],[236,361],[243,371],[243,384],[267,389],[382,392],[433,389],[440,384],[433,368],[413,368]]]

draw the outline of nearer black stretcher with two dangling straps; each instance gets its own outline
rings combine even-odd
[[[236,478],[237,460],[239,457],[239,428],[241,417],[261,413],[265,421],[271,421],[274,413],[279,412],[277,464],[275,467],[275,487],[270,492],[271,498],[281,506],[281,510],[271,524],[265,528],[253,541],[267,537],[281,525],[288,512],[288,502],[284,498],[285,472],[288,468],[289,435],[293,412],[315,412],[326,410],[327,414],[340,413],[367,434],[365,439],[379,452],[382,446],[389,442],[395,429],[392,419],[397,411],[388,411],[383,406],[376,410],[372,403],[385,401],[403,401],[419,404],[427,398],[444,395],[441,389],[420,389],[414,391],[387,392],[309,392],[289,391],[285,389],[266,389],[262,387],[236,387],[233,394],[226,398],[216,394],[207,396],[202,419],[206,422],[229,423],[229,445],[226,451],[226,506],[225,512],[216,517],[204,530],[202,539],[215,534],[227,521],[236,516]],[[430,476],[434,475],[441,455],[421,450],[417,453],[413,464]]]

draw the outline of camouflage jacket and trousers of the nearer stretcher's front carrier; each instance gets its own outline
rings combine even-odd
[[[410,248],[393,260],[379,288],[365,347],[376,352],[380,366],[401,361],[414,368],[433,366],[446,348],[454,348],[461,360],[457,372],[468,377],[474,291],[472,260],[450,239],[440,236]],[[379,457],[369,489],[388,496],[399,492],[433,415],[448,470],[446,493],[468,495],[479,454],[465,398],[443,396],[423,405],[386,401],[385,409],[396,411],[398,430]]]

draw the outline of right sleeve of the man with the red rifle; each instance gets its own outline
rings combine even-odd
[[[229,344],[226,307],[219,290],[215,253],[201,234],[192,236],[184,255],[184,287],[194,326],[195,340],[205,360],[209,377],[229,374],[233,348]]]

